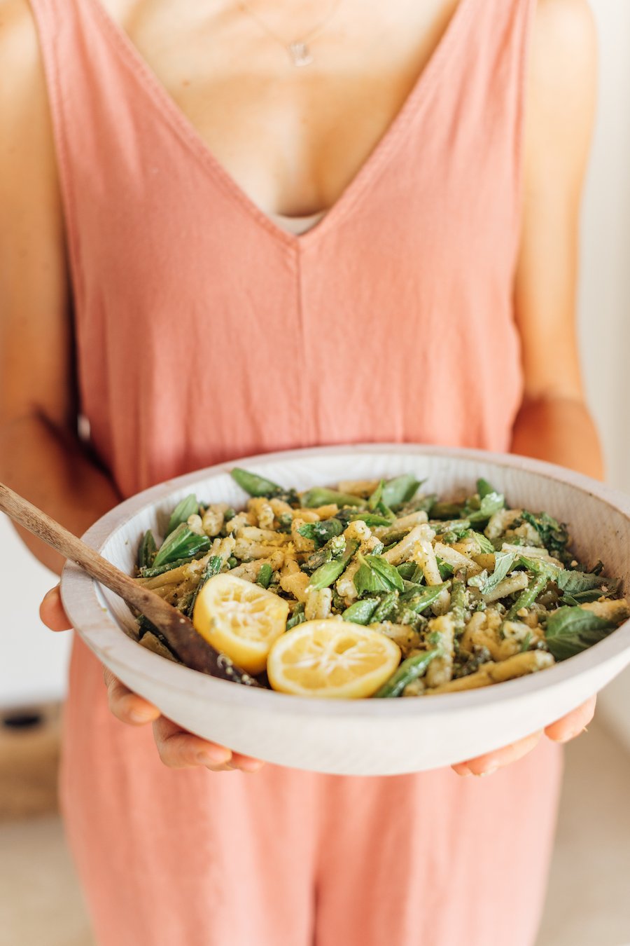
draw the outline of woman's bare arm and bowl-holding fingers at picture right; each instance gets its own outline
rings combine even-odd
[[[595,28],[586,0],[538,0],[525,135],[525,193],[515,305],[524,398],[512,451],[602,478],[597,431],[582,387],[575,296],[582,187],[593,126]],[[546,728],[566,742],[595,699]],[[486,775],[531,751],[542,733],[454,765]]]

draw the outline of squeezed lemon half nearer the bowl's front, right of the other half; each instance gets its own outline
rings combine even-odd
[[[282,634],[267,659],[274,690],[296,696],[371,696],[400,663],[393,640],[341,619],[305,621]]]

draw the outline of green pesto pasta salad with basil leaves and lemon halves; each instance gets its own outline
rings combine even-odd
[[[247,470],[236,510],[191,495],[137,581],[274,690],[341,698],[472,690],[551,667],[628,617],[621,581],[564,523],[493,486],[445,501],[405,474],[298,492]],[[178,660],[138,616],[139,642]]]

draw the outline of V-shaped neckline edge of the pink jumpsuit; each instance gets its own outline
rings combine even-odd
[[[366,184],[383,168],[389,152],[400,141],[402,131],[420,111],[419,106],[423,96],[424,100],[427,100],[429,90],[439,77],[440,68],[449,61],[451,50],[455,47],[460,30],[463,30],[466,25],[468,13],[472,9],[474,0],[458,0],[457,7],[453,10],[451,19],[439,42],[417,76],[399,111],[385,128],[374,148],[366,155],[363,164],[358,167],[337,200],[324,212],[322,219],[303,234],[294,234],[283,229],[279,223],[269,217],[249,197],[247,191],[237,183],[230,171],[214,156],[213,151],[203,140],[191,119],[166,90],[162,81],[141,55],[138,47],[131,42],[125,29],[111,17],[111,14],[103,7],[100,0],[88,0],[88,2],[127,61],[131,71],[144,86],[148,95],[160,106],[160,113],[177,131],[179,137],[187,144],[189,149],[196,154],[201,164],[213,172],[214,177],[222,185],[224,191],[237,201],[247,215],[262,225],[271,236],[293,249],[298,249],[298,247],[305,249],[328,233],[338,220],[347,215],[349,209],[366,189]]]

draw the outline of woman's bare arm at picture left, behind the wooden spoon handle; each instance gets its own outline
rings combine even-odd
[[[119,501],[77,439],[60,189],[35,28],[0,4],[0,479],[77,534]],[[63,560],[30,534],[49,568]]]

